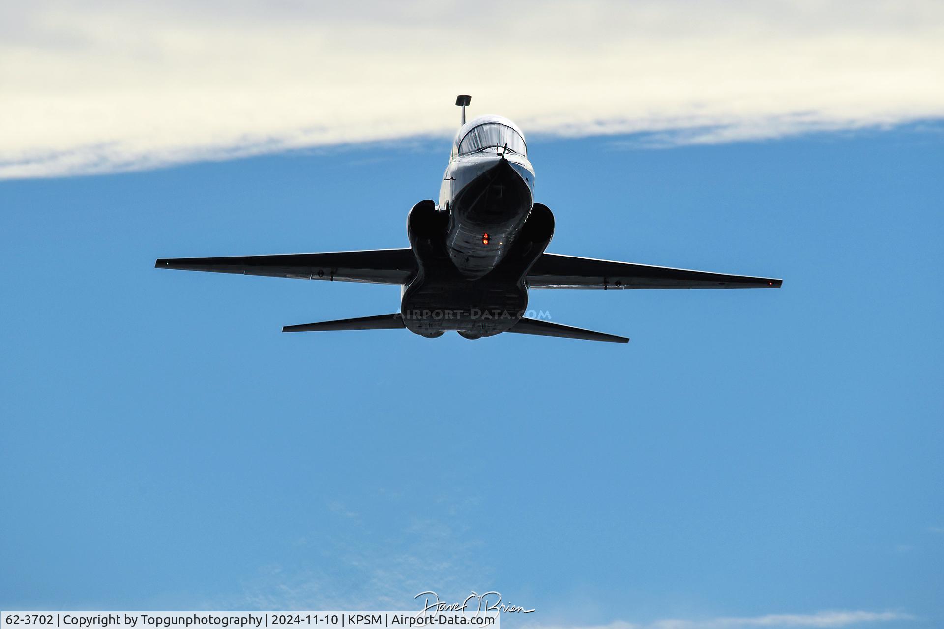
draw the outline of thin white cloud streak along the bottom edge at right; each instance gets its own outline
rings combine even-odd
[[[715,618],[701,621],[668,619],[637,624],[615,621],[609,624],[575,627],[573,625],[530,625],[528,629],[788,629],[791,627],[858,627],[865,623],[911,621],[914,617],[899,612],[820,611],[815,614],[768,614],[742,618]]]

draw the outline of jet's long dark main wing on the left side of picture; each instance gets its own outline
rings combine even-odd
[[[405,284],[416,272],[416,258],[413,250],[406,248],[278,256],[176,257],[160,259],[154,266],[183,271]]]

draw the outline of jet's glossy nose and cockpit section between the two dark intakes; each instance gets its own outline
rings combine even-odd
[[[495,268],[533,203],[534,169],[517,125],[480,116],[460,127],[439,193],[456,267],[470,278]]]

